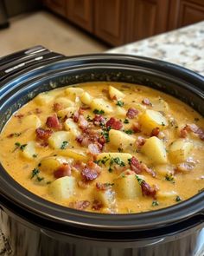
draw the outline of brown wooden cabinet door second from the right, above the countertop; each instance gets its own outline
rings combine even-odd
[[[132,0],[130,41],[163,33],[168,27],[169,0]]]

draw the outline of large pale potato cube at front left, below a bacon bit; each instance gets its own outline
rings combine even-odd
[[[65,176],[53,181],[49,185],[48,190],[55,200],[66,200],[73,195],[74,188],[75,178]]]

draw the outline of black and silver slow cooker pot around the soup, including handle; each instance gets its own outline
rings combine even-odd
[[[66,57],[38,46],[0,59],[0,130],[12,113],[42,91],[94,81],[143,84],[204,115],[204,78],[188,69],[140,56]],[[203,191],[147,213],[87,213],[31,194],[0,166],[0,207],[5,255],[204,255]]]

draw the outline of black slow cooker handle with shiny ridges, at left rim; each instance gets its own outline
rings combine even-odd
[[[52,52],[41,45],[0,57],[0,81],[37,63],[63,57],[63,55]]]

